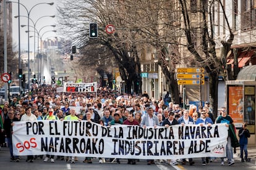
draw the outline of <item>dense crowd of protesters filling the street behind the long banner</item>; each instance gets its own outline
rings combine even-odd
[[[35,121],[35,120],[87,120],[94,123],[99,123],[103,126],[113,126],[116,124],[127,124],[134,126],[164,126],[169,127],[175,124],[203,124],[211,126],[213,123],[233,124],[233,119],[226,114],[226,108],[221,109],[221,115],[214,118],[210,110],[210,103],[205,102],[205,106],[198,107],[191,105],[189,110],[181,108],[181,103],[173,103],[169,99],[149,99],[147,92],[142,95],[119,94],[116,91],[100,87],[96,93],[56,93],[51,86],[44,86],[33,89],[31,95],[25,95],[19,100],[13,98],[12,101],[4,102],[4,106],[0,108],[0,144],[5,147],[6,139],[7,146],[10,148],[11,160],[19,162],[19,156],[12,153],[12,125],[15,121]],[[81,107],[80,112],[76,113],[72,107]],[[244,124],[244,131],[239,131],[239,136],[249,137],[249,132]],[[245,135],[244,135],[245,134]],[[228,137],[227,158],[228,165],[234,164],[233,152]],[[242,151],[245,151],[245,158],[242,161],[247,161],[247,140],[242,140],[244,143]],[[242,152],[241,151],[241,152]],[[44,158],[43,158],[44,157]],[[54,155],[28,155],[27,162],[33,163],[36,159],[48,160],[54,163]],[[65,160],[64,156],[56,156],[56,159]],[[90,157],[86,157],[84,163],[92,163]],[[99,163],[104,163],[105,158],[98,158]],[[66,158],[66,161],[75,163],[77,157]],[[109,159],[109,162],[119,159]],[[134,159],[128,159],[128,164],[136,164]],[[147,160],[147,164],[154,164],[155,160]],[[202,158],[202,165],[205,166],[211,161],[216,161],[216,158]],[[193,165],[192,158],[178,160],[160,160],[161,163],[177,165],[188,163]],[[224,165],[224,158],[221,158],[221,165]]]

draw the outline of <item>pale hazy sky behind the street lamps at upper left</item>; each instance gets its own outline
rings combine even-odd
[[[18,50],[18,45],[19,45],[19,19],[15,18],[14,16],[17,16],[19,14],[18,10],[18,0],[12,0],[14,3],[12,3],[12,37],[14,44],[17,45],[17,50]],[[53,6],[50,6],[49,4],[38,4],[38,3],[50,3],[54,2]],[[20,25],[28,25],[28,12],[30,11],[29,17],[33,20],[33,22],[36,22],[35,28],[36,30],[40,30],[40,35],[42,37],[42,40],[45,39],[53,39],[53,37],[58,36],[58,32],[54,33],[52,30],[57,30],[57,26],[54,28],[52,26],[46,26],[46,25],[57,25],[58,23],[56,22],[56,17],[43,17],[43,16],[49,16],[49,15],[56,15],[57,10],[56,10],[56,3],[57,0],[20,0]],[[25,10],[25,6],[28,10]],[[37,5],[38,4],[38,5]],[[25,17],[22,17],[25,16]],[[42,18],[40,18],[42,17]],[[30,22],[30,25],[33,26],[33,23]],[[43,28],[43,26],[45,26]],[[28,50],[28,34],[25,32],[28,30],[27,26],[20,27],[20,49],[21,50]],[[29,36],[34,36],[33,33],[33,27],[30,26],[29,28],[30,34]],[[47,33],[45,33],[48,31]],[[30,51],[34,50],[34,38],[30,38]],[[37,49],[37,35],[36,35],[36,49]]]

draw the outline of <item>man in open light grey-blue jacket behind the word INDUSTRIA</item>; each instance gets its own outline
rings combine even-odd
[[[146,111],[147,111],[147,114],[143,116],[140,126],[143,126],[144,128],[146,128],[147,126],[153,126],[153,127],[160,126],[158,117],[154,114],[153,108],[148,107]],[[155,163],[154,160],[147,160],[148,165],[154,164],[154,163]]]

